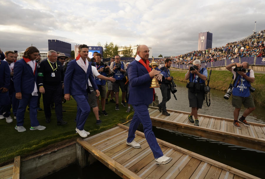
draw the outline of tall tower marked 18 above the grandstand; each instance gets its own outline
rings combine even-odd
[[[198,50],[206,50],[212,48],[213,34],[210,32],[199,33]]]

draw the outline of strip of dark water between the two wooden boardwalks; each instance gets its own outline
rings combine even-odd
[[[155,137],[259,178],[265,178],[265,152],[153,127]]]

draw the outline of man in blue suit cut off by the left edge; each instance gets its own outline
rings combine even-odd
[[[7,62],[0,60],[0,110],[3,112],[0,119],[6,118],[7,123],[13,122],[8,119],[10,117],[9,110],[9,85],[10,85],[10,71]]]

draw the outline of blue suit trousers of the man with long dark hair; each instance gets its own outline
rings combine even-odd
[[[38,96],[32,96],[31,94],[22,93],[22,99],[19,100],[19,107],[16,111],[17,126],[23,126],[24,114],[28,104],[29,104],[30,125],[32,127],[36,127],[39,125],[39,121],[37,120],[37,103],[38,103]]]

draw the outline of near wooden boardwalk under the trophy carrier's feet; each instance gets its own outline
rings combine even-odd
[[[118,124],[110,130],[85,139],[77,139],[89,153],[122,178],[257,178],[243,171],[157,139],[163,153],[173,159],[157,165],[144,134],[136,131],[141,148],[127,145],[128,127]]]

